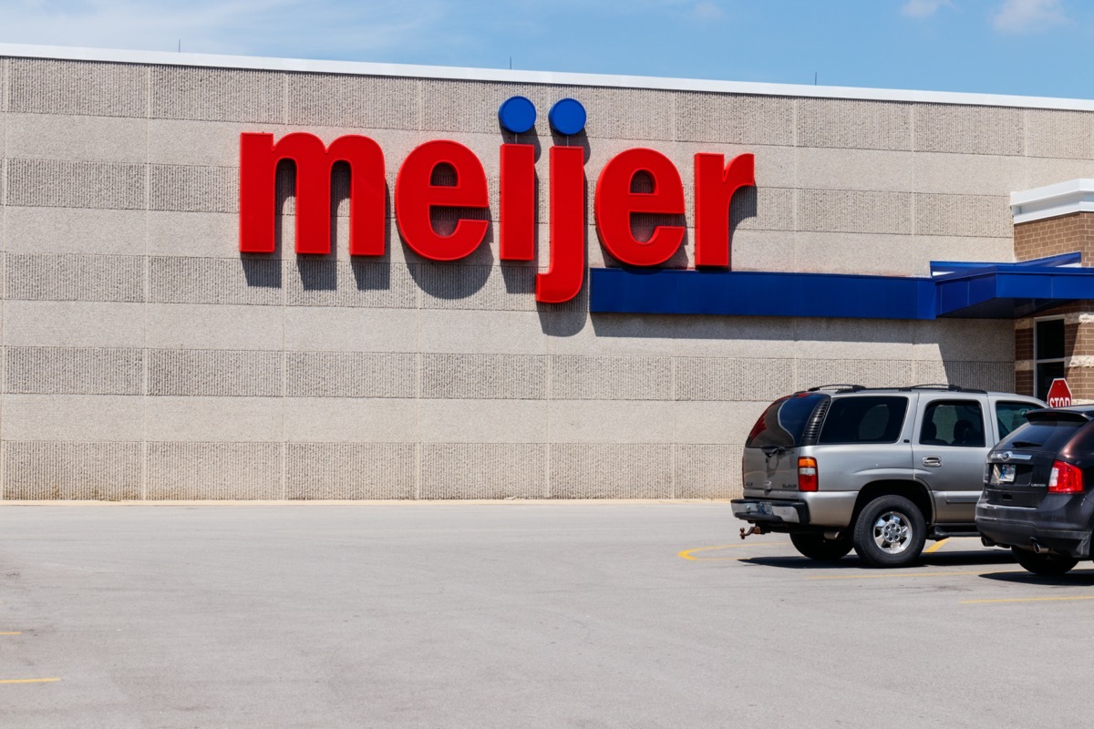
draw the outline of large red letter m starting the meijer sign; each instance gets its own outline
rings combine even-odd
[[[296,165],[296,252],[330,252],[330,169],[350,166],[349,252],[384,252],[384,153],[368,137],[339,137],[330,146],[306,132],[240,134],[240,250],[271,254],[277,215],[277,165]]]

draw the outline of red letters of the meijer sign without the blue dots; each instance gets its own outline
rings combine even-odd
[[[269,133],[240,136],[240,250],[274,252],[276,175],[278,163],[296,166],[296,252],[330,252],[330,171],[339,162],[351,168],[351,256],[384,254],[385,178],[380,145],[359,134],[339,137],[329,145],[306,132],[286,134],[277,142]],[[446,165],[455,185],[434,185],[433,171]],[[752,154],[725,162],[721,154],[695,155],[695,264],[729,268],[730,202],[733,193],[755,183]],[[536,176],[532,144],[500,148],[499,239],[502,260],[534,260]],[[632,191],[635,176],[644,173],[652,191]],[[490,223],[461,219],[450,235],[439,235],[430,222],[434,208],[486,209],[486,172],[469,149],[453,141],[426,142],[407,155],[395,183],[395,219],[406,244],[432,260],[456,260],[470,255]],[[581,291],[585,273],[584,149],[550,149],[550,263],[536,275],[536,301],[567,302]],[[604,247],[624,263],[659,266],[684,240],[685,226],[657,225],[648,240],[635,237],[631,215],[684,215],[684,184],[676,165],[649,149],[620,152],[596,180],[596,231]]]

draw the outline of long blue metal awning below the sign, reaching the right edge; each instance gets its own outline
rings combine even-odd
[[[715,314],[861,319],[1014,319],[1094,299],[1081,255],[1022,263],[931,263],[932,275],[593,269],[594,313]]]

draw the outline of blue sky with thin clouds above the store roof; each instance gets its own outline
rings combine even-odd
[[[0,0],[0,42],[1094,98],[1094,0]]]

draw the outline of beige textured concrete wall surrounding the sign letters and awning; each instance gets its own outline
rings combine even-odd
[[[595,315],[537,305],[536,263],[237,252],[238,134],[476,152],[497,217],[498,106],[521,141],[605,162],[756,155],[740,270],[924,274],[1012,260],[1012,190],[1094,176],[1094,115],[944,104],[0,59],[3,498],[728,497],[761,409],[830,381],[1014,387],[1010,321]],[[565,96],[585,134],[554,137]],[[547,155],[538,240],[547,254]],[[340,173],[339,173],[340,174]],[[589,205],[590,211],[592,204]],[[393,211],[387,207],[388,216]],[[445,221],[435,221],[443,225]],[[613,266],[590,221],[592,266]],[[693,223],[690,212],[687,223]],[[690,264],[694,231],[673,264]]]

